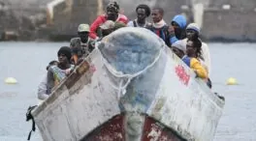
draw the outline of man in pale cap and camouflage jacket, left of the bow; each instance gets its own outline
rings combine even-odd
[[[94,48],[94,41],[89,38],[88,24],[80,24],[78,29],[79,38],[70,41],[72,50],[72,63],[78,65],[82,58],[86,57]]]

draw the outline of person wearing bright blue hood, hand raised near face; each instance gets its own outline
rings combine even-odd
[[[170,34],[170,43],[174,43],[178,40],[184,40],[186,38],[186,17],[182,14],[177,14],[172,22],[170,28],[169,28],[169,34]]]

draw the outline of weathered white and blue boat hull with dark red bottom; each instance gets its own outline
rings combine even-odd
[[[163,44],[132,27],[105,38],[33,111],[43,139],[212,140],[224,101]]]

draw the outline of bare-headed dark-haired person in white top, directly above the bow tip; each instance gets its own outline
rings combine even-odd
[[[147,5],[139,5],[136,8],[137,18],[127,23],[129,27],[148,27],[151,23],[146,21],[146,17],[151,14],[150,8]]]

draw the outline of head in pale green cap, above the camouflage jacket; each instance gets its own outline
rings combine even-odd
[[[88,24],[80,24],[78,34],[81,42],[87,42],[90,33],[90,26]]]

